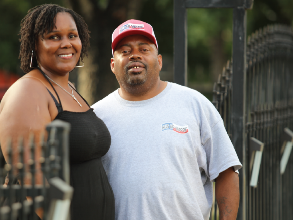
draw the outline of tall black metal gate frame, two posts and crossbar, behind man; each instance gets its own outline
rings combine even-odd
[[[230,113],[232,143],[239,160],[244,165],[239,175],[240,203],[237,218],[246,219],[246,154],[245,146],[245,64],[246,64],[246,21],[247,10],[252,9],[254,0],[174,0],[174,82],[187,86],[187,26],[188,8],[231,8],[233,9],[233,74],[234,90],[231,93]]]

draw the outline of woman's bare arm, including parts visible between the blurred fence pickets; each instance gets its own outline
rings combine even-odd
[[[24,138],[24,162],[27,163],[30,159],[28,137],[31,133],[35,136],[36,184],[42,184],[42,173],[38,163],[41,150],[38,143],[40,133],[44,131],[45,125],[51,122],[48,105],[48,91],[42,82],[32,78],[21,78],[15,82],[0,104],[0,143],[6,161],[9,138],[12,139],[12,164],[15,165],[19,161],[18,138]],[[24,184],[30,184],[30,179],[26,178]]]

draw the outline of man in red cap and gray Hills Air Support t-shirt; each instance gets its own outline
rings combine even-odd
[[[115,219],[208,219],[215,181],[220,219],[235,220],[241,163],[212,103],[160,80],[162,56],[149,24],[121,24],[112,51],[120,88],[92,107],[112,138],[102,162]]]

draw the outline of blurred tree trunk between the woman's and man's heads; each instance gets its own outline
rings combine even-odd
[[[110,69],[112,33],[128,19],[138,19],[142,0],[67,0],[91,31],[89,57],[78,69],[78,91],[93,104],[119,88]]]

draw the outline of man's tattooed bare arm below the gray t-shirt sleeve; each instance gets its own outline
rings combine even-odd
[[[221,172],[216,178],[215,196],[220,220],[235,220],[239,207],[239,178],[233,167]]]

